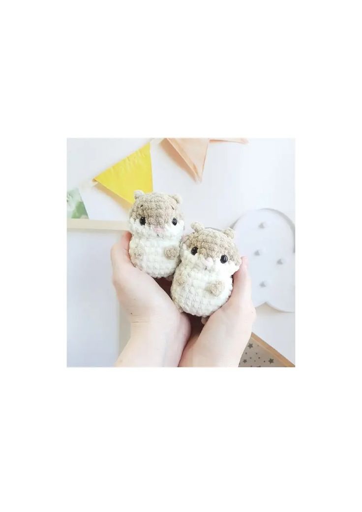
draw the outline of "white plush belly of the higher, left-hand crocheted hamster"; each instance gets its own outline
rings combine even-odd
[[[170,259],[165,256],[165,249],[168,247],[178,247],[179,240],[163,240],[163,239],[145,239],[132,236],[129,243],[129,255],[133,265],[143,270],[153,278],[166,278],[174,273],[179,257]],[[138,257],[137,250],[142,253]]]

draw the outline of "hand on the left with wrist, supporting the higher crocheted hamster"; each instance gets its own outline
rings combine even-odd
[[[128,231],[123,233],[111,249],[113,284],[131,325],[131,337],[116,366],[177,366],[190,336],[189,318],[165,291],[170,282],[155,281],[132,265],[130,239]]]

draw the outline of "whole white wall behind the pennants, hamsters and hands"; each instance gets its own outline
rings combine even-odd
[[[67,188],[78,187],[149,139],[70,139]],[[211,143],[202,183],[195,183],[161,143],[152,148],[154,190],[183,196],[186,225],[224,228],[245,211],[275,208],[295,220],[294,141],[251,139],[242,145]],[[83,191],[93,219],[126,220],[127,205],[104,190]],[[120,350],[119,313],[110,285],[109,250],[117,233],[68,233],[68,364],[110,366]],[[295,314],[258,308],[254,332],[295,360]],[[121,321],[121,344],[128,325]]]

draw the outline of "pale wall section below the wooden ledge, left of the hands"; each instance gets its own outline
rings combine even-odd
[[[67,233],[67,364],[108,366],[119,352],[109,250],[118,233]]]

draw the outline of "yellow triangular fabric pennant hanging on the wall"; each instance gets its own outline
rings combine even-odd
[[[134,190],[152,192],[150,144],[141,147],[94,178],[117,196],[133,204]]]

